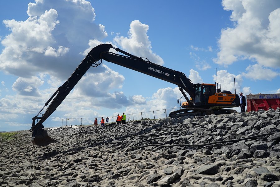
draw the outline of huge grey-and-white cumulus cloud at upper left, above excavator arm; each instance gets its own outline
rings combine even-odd
[[[108,36],[104,26],[93,22],[94,9],[85,0],[37,1],[29,3],[27,13],[26,21],[3,21],[12,31],[1,41],[0,70],[7,74],[47,72],[65,79],[82,60],[77,54],[89,40]]]

